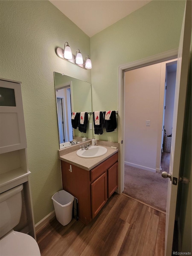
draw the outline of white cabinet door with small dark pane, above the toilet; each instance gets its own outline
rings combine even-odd
[[[0,80],[0,153],[27,147],[21,85]]]

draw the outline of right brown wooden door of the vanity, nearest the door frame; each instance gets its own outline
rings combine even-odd
[[[107,170],[108,198],[118,188],[118,162]]]

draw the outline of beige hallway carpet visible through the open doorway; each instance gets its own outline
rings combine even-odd
[[[125,164],[124,193],[166,211],[168,179]]]

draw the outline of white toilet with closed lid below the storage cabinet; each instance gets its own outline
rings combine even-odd
[[[0,194],[0,255],[41,256],[37,242],[32,236],[16,232],[22,209],[23,185]]]

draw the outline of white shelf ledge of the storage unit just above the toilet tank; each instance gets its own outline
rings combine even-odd
[[[0,193],[28,181],[28,175],[22,168],[17,168],[0,174]]]

